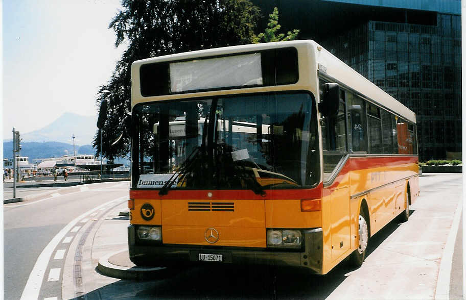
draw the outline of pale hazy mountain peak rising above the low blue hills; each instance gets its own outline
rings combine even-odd
[[[71,144],[73,150],[73,134],[75,135],[75,145],[92,144],[94,135],[97,132],[96,123],[97,116],[81,116],[66,112],[48,126],[32,132],[21,132],[20,135],[22,143],[61,142]],[[6,139],[5,141],[11,140]]]

